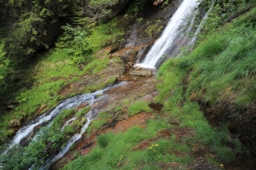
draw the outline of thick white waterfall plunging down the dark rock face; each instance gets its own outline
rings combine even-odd
[[[143,68],[155,69],[157,61],[162,57],[168,48],[172,47],[175,39],[183,33],[183,26],[187,25],[189,20],[186,20],[190,14],[193,14],[195,8],[199,5],[198,0],[183,0],[183,3],[177,8],[171,20],[168,22],[161,37],[154,43],[149,50],[143,63],[135,66]],[[193,19],[194,20],[194,19]]]

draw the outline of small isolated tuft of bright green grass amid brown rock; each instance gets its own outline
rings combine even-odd
[[[141,101],[137,101],[137,102],[134,102],[133,104],[131,104],[129,106],[128,111],[129,111],[130,116],[135,116],[142,111],[150,112],[152,110],[148,107],[147,103],[145,103],[144,101],[141,100]]]

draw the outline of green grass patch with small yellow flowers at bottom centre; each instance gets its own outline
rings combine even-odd
[[[177,156],[170,154],[166,156],[167,149],[174,149],[187,153],[189,148],[184,144],[175,143],[169,140],[159,140],[154,144],[155,150],[134,150],[133,146],[144,139],[153,138],[156,133],[162,129],[170,127],[168,122],[160,119],[148,120],[146,129],[141,127],[131,127],[126,133],[106,133],[98,137],[98,146],[90,151],[86,156],[80,156],[78,159],[69,162],[63,169],[131,169],[140,165],[153,164],[157,161],[170,161],[172,158],[177,159],[180,163],[191,161],[191,157],[185,156],[179,159]],[[171,147],[171,148],[170,148]],[[169,156],[169,155],[168,155]],[[123,167],[118,167],[119,162],[125,162]]]

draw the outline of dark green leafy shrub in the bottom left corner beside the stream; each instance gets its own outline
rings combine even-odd
[[[36,138],[28,146],[15,145],[0,156],[0,164],[4,165],[2,169],[39,169],[49,158],[49,152],[63,148],[66,141],[61,129],[55,127],[42,127]]]

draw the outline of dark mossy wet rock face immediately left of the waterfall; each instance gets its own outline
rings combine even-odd
[[[163,0],[150,1],[148,8],[143,11],[143,20],[135,21],[128,28],[129,31],[127,31],[125,37],[125,48],[144,46],[137,49],[135,60],[143,60],[150,47],[160,37],[172,14],[183,1],[172,0],[170,2],[166,8],[161,8],[160,3],[163,3]]]

